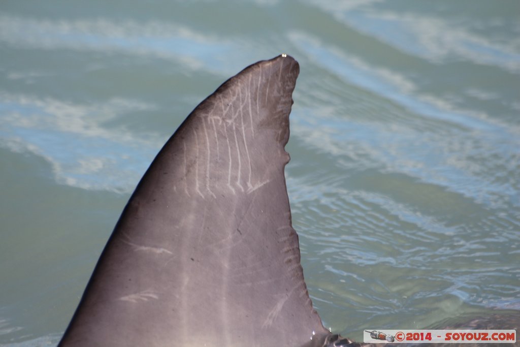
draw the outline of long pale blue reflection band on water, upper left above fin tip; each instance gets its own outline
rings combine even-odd
[[[69,21],[4,15],[0,17],[0,37],[14,47],[150,56],[173,60],[192,70],[218,69],[215,54],[229,55],[231,48],[218,36],[174,23],[101,18]]]

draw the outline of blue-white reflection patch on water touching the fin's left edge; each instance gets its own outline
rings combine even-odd
[[[8,94],[1,95],[0,102],[5,112],[5,126],[0,130],[4,145],[45,158],[61,184],[131,190],[135,184],[127,182],[127,176],[137,181],[157,148],[150,140],[102,126],[127,112],[147,112],[151,107],[146,104],[113,99],[102,104],[76,105]],[[106,153],[106,148],[113,152]]]

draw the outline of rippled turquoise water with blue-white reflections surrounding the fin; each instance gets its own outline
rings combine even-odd
[[[252,62],[300,62],[286,168],[324,325],[520,310],[520,3],[0,5],[0,344],[55,345],[139,178]]]

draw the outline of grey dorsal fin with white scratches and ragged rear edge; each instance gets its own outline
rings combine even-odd
[[[289,56],[259,61],[191,112],[128,201],[61,346],[301,346],[327,335],[283,173],[298,72]]]

